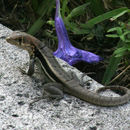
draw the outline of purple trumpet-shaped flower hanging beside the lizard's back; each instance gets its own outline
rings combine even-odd
[[[64,22],[60,14],[60,2],[56,0],[55,27],[58,37],[58,49],[53,53],[56,57],[74,65],[79,61],[98,63],[102,58],[91,52],[84,51],[72,46]]]

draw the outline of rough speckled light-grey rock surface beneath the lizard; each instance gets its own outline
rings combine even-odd
[[[5,41],[12,31],[0,24],[0,129],[3,130],[129,130],[130,103],[118,107],[99,107],[65,94],[60,101],[43,99],[42,82],[37,74],[30,78],[18,67],[27,69],[29,56]],[[102,87],[76,68],[59,60],[65,71],[73,71],[92,91]],[[36,80],[37,79],[37,80]],[[111,96],[111,92],[107,92]],[[114,96],[116,94],[113,94]]]

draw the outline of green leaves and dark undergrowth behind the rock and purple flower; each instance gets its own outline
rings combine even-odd
[[[105,85],[130,88],[130,1],[60,0],[71,43],[104,58],[98,64],[75,65]],[[0,23],[35,35],[53,51],[55,0],[1,0]]]

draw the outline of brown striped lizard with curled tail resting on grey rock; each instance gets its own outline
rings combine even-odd
[[[63,92],[65,92],[91,104],[103,107],[122,105],[130,100],[130,90],[122,86],[102,87],[97,92],[92,92],[82,87],[74,76],[63,70],[63,68],[53,56],[52,50],[49,49],[45,43],[41,42],[39,39],[30,34],[14,31],[12,34],[6,37],[6,41],[12,45],[28,51],[30,56],[30,63],[27,74],[29,76],[34,74],[34,64],[36,63],[36,59],[38,59],[44,73],[52,81],[51,83],[45,84],[44,88],[45,92],[52,95],[52,97],[63,97]],[[57,85],[57,83],[62,85]],[[102,96],[98,93],[106,89],[120,90],[123,92],[123,95],[118,97],[108,97]]]

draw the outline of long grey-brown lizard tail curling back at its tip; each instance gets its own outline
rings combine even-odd
[[[100,94],[94,93],[92,91],[88,91],[85,88],[81,87],[80,85],[76,86],[77,83],[75,83],[74,80],[68,81],[67,84],[66,85],[68,87],[70,86],[69,84],[71,84],[71,87],[69,87],[69,92],[71,93],[71,95],[95,105],[111,107],[125,104],[130,100],[130,90],[125,87],[108,86],[99,89],[98,92],[104,91],[105,89],[110,89],[110,90],[120,90],[121,93],[123,93],[123,95],[119,97],[107,97],[107,96],[101,96]]]

